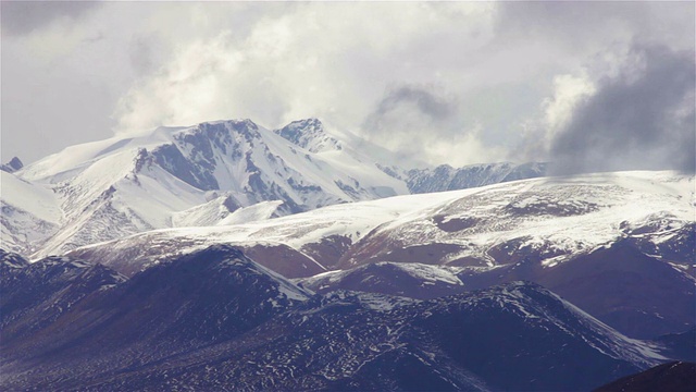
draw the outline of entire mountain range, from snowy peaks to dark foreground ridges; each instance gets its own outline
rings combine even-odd
[[[694,174],[548,166],[316,119],[13,159],[0,385],[571,391],[696,360]]]

